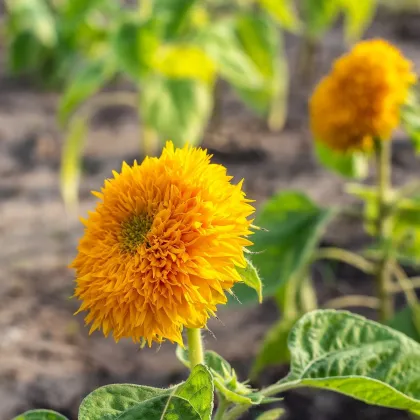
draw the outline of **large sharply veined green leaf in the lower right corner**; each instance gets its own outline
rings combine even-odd
[[[420,345],[344,311],[305,315],[289,336],[291,372],[280,383],[340,392],[420,414]]]

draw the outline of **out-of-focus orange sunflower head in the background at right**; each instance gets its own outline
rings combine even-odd
[[[388,140],[416,82],[413,64],[380,39],[363,41],[340,57],[310,100],[317,141],[339,150],[369,150]]]

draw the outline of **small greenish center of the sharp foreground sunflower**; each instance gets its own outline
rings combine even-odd
[[[121,225],[120,243],[124,252],[134,254],[145,240],[153,220],[147,214],[131,217]]]

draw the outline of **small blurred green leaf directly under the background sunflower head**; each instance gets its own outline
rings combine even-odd
[[[346,178],[363,179],[368,175],[368,158],[361,152],[340,153],[315,141],[315,154],[322,166]]]

